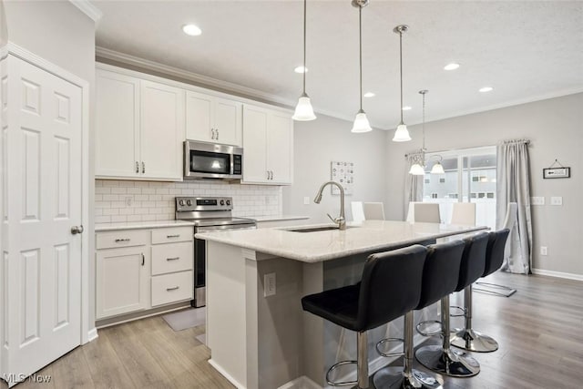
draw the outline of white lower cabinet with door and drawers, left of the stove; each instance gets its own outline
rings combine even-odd
[[[192,300],[192,227],[96,234],[96,319]]]

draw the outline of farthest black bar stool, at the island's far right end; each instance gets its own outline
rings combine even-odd
[[[492,274],[502,267],[504,248],[510,230],[497,230],[489,233],[486,248],[486,269],[482,277]],[[478,333],[472,328],[472,284],[464,290],[465,328],[452,336],[451,344],[455,347],[478,353],[491,353],[498,349],[498,343],[492,337]]]

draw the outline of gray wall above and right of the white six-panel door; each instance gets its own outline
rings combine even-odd
[[[70,2],[5,1],[10,42],[45,58],[89,83],[89,204],[94,203],[93,123],[95,90],[95,23]],[[93,207],[84,227],[89,235],[89,323],[95,317]]]

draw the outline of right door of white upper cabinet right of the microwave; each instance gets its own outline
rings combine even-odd
[[[291,184],[293,181],[293,122],[281,112],[272,112],[267,130],[267,169],[271,183]]]

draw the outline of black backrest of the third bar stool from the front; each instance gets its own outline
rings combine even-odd
[[[478,232],[465,238],[464,254],[459,267],[459,280],[455,292],[462,291],[484,274],[486,268],[486,248],[489,235],[487,232]]]

